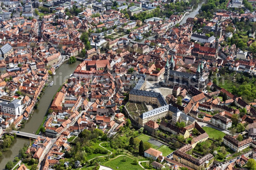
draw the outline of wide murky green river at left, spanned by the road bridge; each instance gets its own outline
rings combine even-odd
[[[33,115],[29,118],[25,127],[21,129],[21,131],[28,133],[37,131],[44,119],[45,114],[47,113],[48,107],[51,104],[51,100],[54,94],[57,92],[62,83],[74,72],[80,63],[80,61],[76,61],[73,64],[68,64],[66,61],[56,70],[56,75],[52,76],[52,80],[54,81],[53,86],[49,86],[45,89],[44,94],[38,101],[37,109],[34,111]],[[19,150],[23,147],[25,142],[29,143],[29,140],[16,138],[10,149],[6,152],[3,152],[3,156],[0,157],[0,170],[4,169],[5,164],[9,160],[13,161],[14,157],[18,156]]]

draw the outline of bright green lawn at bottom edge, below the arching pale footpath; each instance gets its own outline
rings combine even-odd
[[[124,161],[125,157],[125,161]],[[109,166],[115,170],[122,169],[122,170],[130,170],[130,169],[137,169],[137,170],[144,170],[138,163],[133,163],[133,159],[127,156],[119,156],[116,159],[109,160],[104,162],[103,165]],[[118,167],[118,168],[117,168]]]

